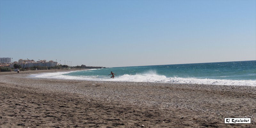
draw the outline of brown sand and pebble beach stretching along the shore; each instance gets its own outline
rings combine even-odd
[[[40,72],[0,73],[0,128],[256,127],[256,87],[26,77]]]

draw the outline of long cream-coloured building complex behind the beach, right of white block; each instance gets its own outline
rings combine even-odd
[[[10,67],[13,68],[14,64],[20,65],[22,68],[29,68],[29,67],[33,67],[33,66],[54,67],[54,66],[58,65],[58,62],[54,62],[52,60],[50,60],[50,61],[46,61],[46,60],[35,61],[35,60],[23,60],[23,59],[20,59],[18,62],[14,61],[10,65]]]

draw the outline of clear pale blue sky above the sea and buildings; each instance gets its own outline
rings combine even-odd
[[[256,60],[256,2],[1,0],[0,57],[105,67]]]

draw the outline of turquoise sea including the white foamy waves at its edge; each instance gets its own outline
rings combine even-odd
[[[116,74],[114,79],[110,78],[111,75],[109,74],[111,71]],[[256,86],[256,60],[100,68],[33,74],[28,77],[92,81]]]

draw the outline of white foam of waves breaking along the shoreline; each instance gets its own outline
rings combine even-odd
[[[72,72],[74,72],[74,71],[72,71]],[[136,74],[136,75],[125,74],[122,76],[116,76],[114,79],[109,78],[108,76],[68,76],[68,75],[64,75],[67,73],[70,73],[70,72],[33,74],[28,77],[52,78],[52,79],[94,80],[94,81],[163,82],[163,83],[256,86],[256,80],[224,80],[224,79],[166,77],[164,75],[157,75],[154,71],[147,73],[147,74]]]

